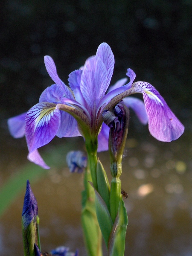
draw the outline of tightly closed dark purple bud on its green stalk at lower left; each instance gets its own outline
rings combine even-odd
[[[30,187],[29,180],[27,180],[22,212],[22,233],[25,256],[34,256],[34,244],[39,245],[38,221],[37,201]]]

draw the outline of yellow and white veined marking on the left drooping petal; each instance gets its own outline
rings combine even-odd
[[[35,119],[35,129],[37,127],[44,126],[45,123],[48,123],[53,116],[55,107],[54,108],[44,108],[40,111],[37,118]]]

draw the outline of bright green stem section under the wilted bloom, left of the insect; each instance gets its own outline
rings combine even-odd
[[[111,181],[111,192],[110,192],[110,213],[112,221],[115,221],[117,212],[119,210],[119,202],[122,199],[121,195],[121,180],[117,177],[113,177]]]

